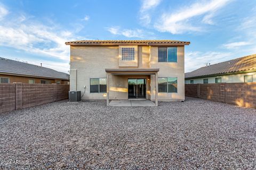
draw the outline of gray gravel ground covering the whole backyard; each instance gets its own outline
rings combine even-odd
[[[0,169],[256,168],[256,109],[195,98],[105,105],[59,101],[1,114]]]

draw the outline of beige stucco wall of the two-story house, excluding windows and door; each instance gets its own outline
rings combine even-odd
[[[106,99],[106,94],[90,93],[90,78],[106,78],[105,69],[159,68],[158,78],[177,77],[177,93],[158,93],[158,100],[184,100],[184,47],[178,47],[177,63],[158,63],[158,48],[138,46],[138,66],[119,66],[118,46],[71,46],[70,90],[85,94],[82,99]],[[150,75],[110,75],[110,99],[127,99],[128,78],[147,78],[147,98],[155,99],[155,79]],[[148,80],[149,79],[149,80]],[[150,91],[151,90],[151,91]]]

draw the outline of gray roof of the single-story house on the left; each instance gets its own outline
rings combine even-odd
[[[46,67],[18,62],[2,57],[0,57],[0,74],[1,72],[69,80],[69,74],[58,72]]]

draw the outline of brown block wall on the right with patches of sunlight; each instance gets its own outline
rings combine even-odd
[[[186,84],[185,95],[227,104],[256,108],[256,82]]]

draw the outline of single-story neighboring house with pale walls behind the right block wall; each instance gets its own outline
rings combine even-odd
[[[186,84],[256,82],[256,54],[185,73]]]

